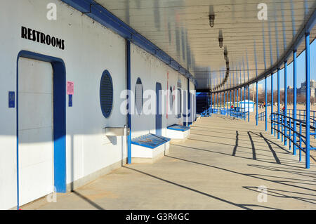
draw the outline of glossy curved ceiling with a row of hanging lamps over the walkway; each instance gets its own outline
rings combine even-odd
[[[197,90],[220,91],[254,81],[289,51],[315,13],[313,0],[96,0],[190,71]],[[214,15],[214,25],[209,25]],[[223,36],[220,48],[218,37]],[[315,27],[310,41],[316,37]],[[225,79],[227,48],[230,72]],[[305,48],[302,42],[298,54]],[[288,59],[291,62],[292,58]]]

